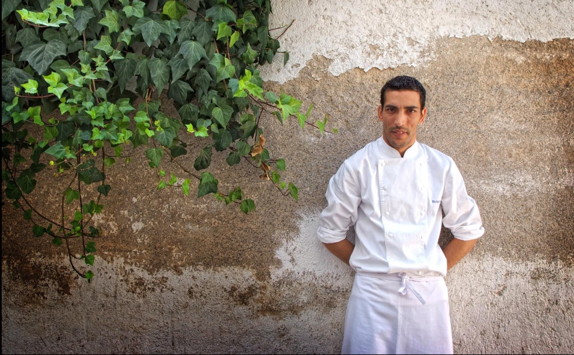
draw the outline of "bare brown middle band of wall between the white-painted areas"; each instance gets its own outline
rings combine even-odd
[[[427,53],[436,60],[425,65],[355,69],[336,77],[328,73],[328,60],[315,57],[297,79],[283,85],[270,82],[268,88],[304,99],[304,106],[313,103],[313,119],[327,114],[328,128],[338,128],[339,134],[321,136],[312,126],[301,130],[294,119],[281,126],[271,115],[262,118],[266,148],[272,159],[286,160],[283,180],[300,188],[298,202],[259,179],[258,168],[245,161],[228,167],[227,154],[215,151],[207,170],[219,179],[220,191],[227,194],[241,186],[245,198],[255,200],[255,213],[245,215],[238,205],[225,206],[212,196],[197,199],[195,182],[187,197],[179,188],[156,191],[156,173],[148,167],[145,148],[126,148],[122,154],[133,155],[131,163],[118,159],[107,169],[112,190],[102,200],[103,214],[94,218],[103,234],[96,240],[96,254],[108,261],[123,258],[126,265],[152,275],[164,270],[180,274],[188,267],[245,268],[257,277],[257,292],[222,292],[242,304],[258,302],[262,312],[286,311],[277,308],[281,295],[272,291],[269,280],[270,270],[280,266],[275,250],[298,233],[297,211],[305,207],[318,214],[325,207],[328,180],[343,160],[380,136],[376,109],[382,84],[395,75],[412,75],[428,90],[429,115],[418,139],[453,157],[479,203],[486,234],[470,257],[534,257],[571,265],[573,52],[574,41],[567,38],[523,44],[478,36],[443,38]],[[173,108],[168,113],[177,117]],[[185,134],[180,138],[188,142],[190,153],[178,160],[193,170],[193,160],[207,143]],[[188,178],[165,159],[162,168],[166,176]],[[46,178],[51,173],[42,172]],[[54,206],[59,206],[59,194],[68,182],[49,181],[52,185],[38,186],[30,200],[38,210],[58,218]],[[84,199],[95,198],[95,188],[84,188]],[[66,208],[72,215],[72,207]],[[63,247],[52,246],[46,237],[33,238],[32,223],[9,205],[2,207],[2,221],[2,261],[12,275],[10,284],[33,280],[30,292],[41,293],[36,289],[53,281],[69,294],[74,276],[58,264]],[[73,248],[81,250],[77,242]],[[126,288],[153,292],[161,284],[130,280]],[[8,290],[9,283],[3,282],[3,288]],[[190,292],[191,296],[197,290]]]

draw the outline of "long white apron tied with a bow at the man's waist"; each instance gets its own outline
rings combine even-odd
[[[357,273],[342,354],[452,354],[444,277]]]

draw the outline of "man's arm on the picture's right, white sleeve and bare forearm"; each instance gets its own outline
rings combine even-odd
[[[448,270],[468,254],[484,234],[478,206],[468,196],[463,178],[454,163],[447,176],[441,205],[444,211],[443,224],[455,237],[443,249]]]

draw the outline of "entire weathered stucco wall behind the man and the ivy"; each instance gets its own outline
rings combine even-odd
[[[95,217],[104,238],[91,284],[73,276],[62,248],[34,239],[32,225],[4,206],[2,353],[340,352],[352,271],[316,239],[317,217],[339,165],[380,136],[379,89],[401,74],[428,90],[418,140],[453,157],[486,230],[447,276],[455,352],[574,350],[574,30],[565,20],[572,3],[363,2],[363,10],[340,7],[350,21],[319,25],[305,19],[343,10],[308,3],[274,8],[272,25],[304,23],[282,43],[302,54],[292,55],[284,76],[270,68],[274,81],[266,84],[313,103],[313,117],[327,114],[340,134],[280,126],[273,117],[263,123],[272,157],[286,160],[284,180],[300,187],[298,202],[247,162],[228,167],[222,153],[210,167],[220,190],[241,185],[257,213],[156,191],[144,149],[126,149],[131,163],[108,171],[113,189]],[[372,8],[394,25],[371,21]],[[440,16],[413,29],[410,16],[401,21],[405,9]],[[364,38],[381,42],[356,37],[358,24]],[[323,32],[340,38],[334,52]],[[395,51],[389,38],[420,47]],[[357,50],[365,43],[374,46],[368,55]],[[378,61],[385,51],[397,60]],[[203,146],[182,139],[188,151]],[[192,167],[193,159],[182,163]],[[38,186],[34,206],[56,218],[67,183]],[[94,188],[84,189],[86,198]],[[445,230],[441,243],[448,239]]]

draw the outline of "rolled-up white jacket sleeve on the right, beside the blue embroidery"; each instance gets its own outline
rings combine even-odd
[[[452,231],[455,238],[472,240],[484,234],[478,206],[468,196],[463,177],[454,162],[448,172],[441,205],[444,211],[443,224]]]

